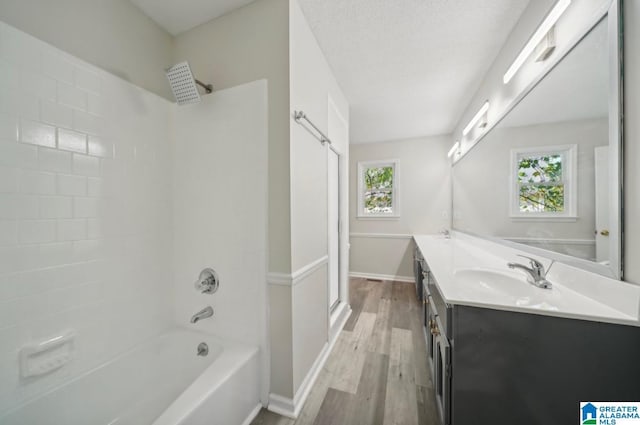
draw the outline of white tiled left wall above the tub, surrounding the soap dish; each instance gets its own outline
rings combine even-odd
[[[171,108],[0,23],[0,414],[171,322]],[[68,329],[75,359],[21,379]]]

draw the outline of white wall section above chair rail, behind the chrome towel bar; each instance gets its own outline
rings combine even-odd
[[[302,110],[327,133],[329,98],[342,118],[349,120],[349,104],[338,86],[297,1],[290,12],[291,113]],[[291,135],[291,258],[297,270],[327,254],[327,149],[294,120]],[[342,143],[341,143],[342,142]],[[336,139],[342,159],[348,146]]]

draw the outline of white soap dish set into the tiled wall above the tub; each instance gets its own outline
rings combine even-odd
[[[69,330],[20,350],[20,374],[23,378],[45,375],[73,359],[75,331]]]

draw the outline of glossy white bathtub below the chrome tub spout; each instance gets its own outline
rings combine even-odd
[[[205,342],[206,356],[197,356]],[[0,417],[2,425],[241,425],[260,409],[258,348],[168,331]]]

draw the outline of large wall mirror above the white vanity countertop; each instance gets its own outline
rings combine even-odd
[[[621,277],[608,24],[592,28],[456,162],[454,229]]]

